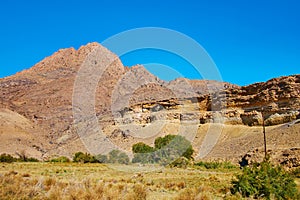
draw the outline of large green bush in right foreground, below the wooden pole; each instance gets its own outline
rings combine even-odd
[[[267,161],[245,167],[242,174],[232,180],[232,194],[266,199],[300,199],[297,185],[291,175],[280,166]]]

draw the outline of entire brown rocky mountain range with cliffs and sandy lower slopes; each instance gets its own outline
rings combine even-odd
[[[74,123],[74,83],[94,49],[112,54],[98,43],[62,49],[0,79],[0,153],[47,160],[87,151]],[[185,78],[165,82],[143,66],[124,67],[115,57],[97,80],[95,114],[105,137],[121,149],[130,152],[140,141],[153,145],[166,134],[190,134],[197,157],[208,134],[217,134],[202,159],[260,158],[264,121],[272,159],[300,166],[300,75],[243,87]]]

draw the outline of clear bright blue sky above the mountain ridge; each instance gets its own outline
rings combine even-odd
[[[0,18],[0,77],[29,68],[59,48],[101,43],[119,32],[149,26],[195,39],[227,82],[246,85],[300,73],[298,0],[12,0],[1,1]],[[149,50],[122,61],[162,62],[158,58],[170,60],[170,55]],[[172,63],[183,62],[165,64]],[[187,78],[199,78],[193,70],[176,69]]]

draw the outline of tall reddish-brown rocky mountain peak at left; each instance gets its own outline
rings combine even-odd
[[[46,137],[42,139],[43,144],[39,144],[44,149],[42,157],[70,155],[78,147],[84,149],[73,127],[72,96],[77,72],[95,48],[106,51],[98,43],[90,43],[78,50],[59,50],[29,70],[0,80],[0,108],[12,110],[39,127],[40,135]],[[124,70],[121,61],[116,59],[103,73],[97,87],[98,113],[107,111],[114,83]],[[71,147],[72,143],[74,147]],[[69,146],[67,149],[63,147],[66,145]]]

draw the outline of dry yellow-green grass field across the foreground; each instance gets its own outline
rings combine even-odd
[[[238,169],[1,163],[0,199],[224,199]],[[230,197],[230,199],[236,199]]]

